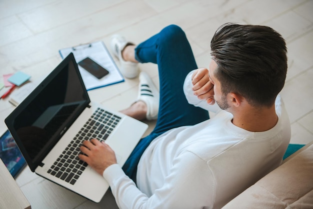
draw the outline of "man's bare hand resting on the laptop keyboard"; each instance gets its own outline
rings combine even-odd
[[[106,143],[97,139],[83,141],[80,151],[85,155],[79,154],[79,159],[85,161],[100,175],[108,166],[117,163],[114,151]]]

